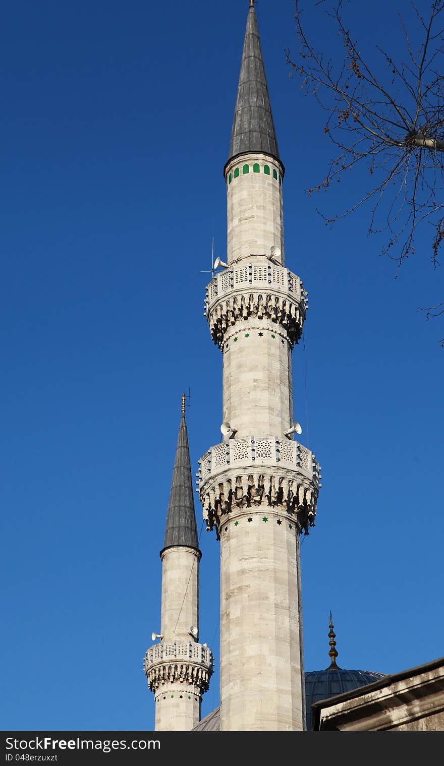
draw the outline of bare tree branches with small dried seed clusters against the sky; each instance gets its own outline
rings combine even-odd
[[[367,168],[370,191],[358,194],[346,210],[323,215],[326,224],[373,200],[368,231],[386,233],[383,253],[400,267],[415,254],[419,228],[430,224],[426,231],[431,231],[430,259],[436,268],[444,240],[444,0],[431,0],[427,16],[413,6],[413,38],[400,17],[406,58],[395,61],[377,47],[385,75],[364,60],[344,23],[342,0],[333,7],[329,0],[316,5],[327,12],[343,47],[333,59],[317,51],[303,24],[301,0],[295,0],[299,54],[294,60],[288,52],[287,61],[325,113],[324,134],[334,146],[327,175],[308,193],[331,188],[357,165]],[[423,310],[427,318],[441,316],[444,304]]]

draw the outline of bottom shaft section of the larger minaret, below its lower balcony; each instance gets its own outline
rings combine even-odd
[[[301,730],[294,519],[265,505],[233,513],[228,526],[221,537],[221,729]]]

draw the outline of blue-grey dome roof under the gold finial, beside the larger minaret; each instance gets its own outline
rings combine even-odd
[[[367,683],[379,681],[383,677],[383,673],[373,673],[370,670],[344,670],[338,666],[305,673],[308,731],[311,729],[311,705],[314,702],[351,692],[353,689],[359,689],[360,686],[367,686]]]

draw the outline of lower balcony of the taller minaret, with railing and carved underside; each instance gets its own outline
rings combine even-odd
[[[321,467],[307,447],[286,438],[228,439],[199,460],[197,491],[208,529],[235,509],[279,507],[308,534],[314,526]]]

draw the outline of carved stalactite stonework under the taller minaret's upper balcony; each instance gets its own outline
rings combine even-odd
[[[207,314],[211,336],[219,349],[229,327],[245,319],[271,319],[281,325],[293,348],[301,338],[305,307],[293,296],[274,293],[236,293],[212,305]]]

